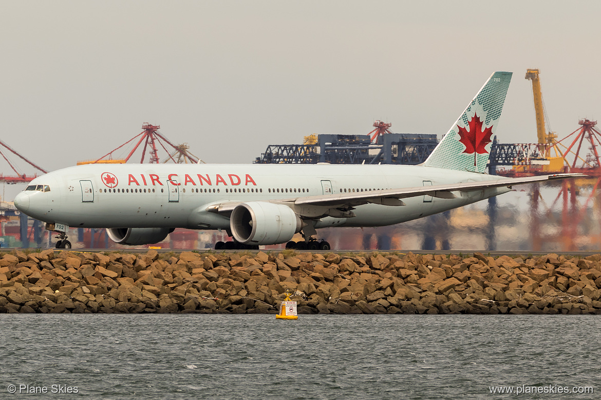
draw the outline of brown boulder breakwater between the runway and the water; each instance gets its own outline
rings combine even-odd
[[[55,251],[0,257],[0,312],[599,314],[601,255]]]

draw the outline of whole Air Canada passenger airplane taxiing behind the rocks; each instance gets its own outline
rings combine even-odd
[[[509,72],[484,83],[418,166],[349,164],[87,164],[35,178],[14,205],[58,233],[106,228],[122,245],[161,242],[175,228],[225,230],[215,249],[330,249],[325,227],[379,227],[465,206],[513,185],[576,178],[487,175]],[[293,242],[294,234],[304,240]]]

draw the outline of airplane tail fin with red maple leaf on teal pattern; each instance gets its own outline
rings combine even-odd
[[[511,81],[510,72],[495,72],[442,138],[424,166],[483,173]]]

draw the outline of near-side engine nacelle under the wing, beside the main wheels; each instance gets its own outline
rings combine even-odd
[[[294,233],[301,231],[302,222],[288,206],[248,201],[231,212],[230,228],[240,243],[275,245],[292,239]]]

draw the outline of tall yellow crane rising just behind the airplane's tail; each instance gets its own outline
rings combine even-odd
[[[538,144],[540,146],[540,154],[545,158],[548,163],[543,165],[545,172],[560,172],[563,170],[564,157],[563,154],[557,148],[557,135],[552,131],[547,132],[546,126],[549,127],[549,119],[545,110],[545,104],[543,103],[543,93],[540,89],[540,79],[538,69],[529,68],[526,70],[525,79],[532,81],[532,95],[534,97],[534,112],[536,114],[536,131],[538,136]],[[551,149],[554,150],[554,157],[551,156]]]

